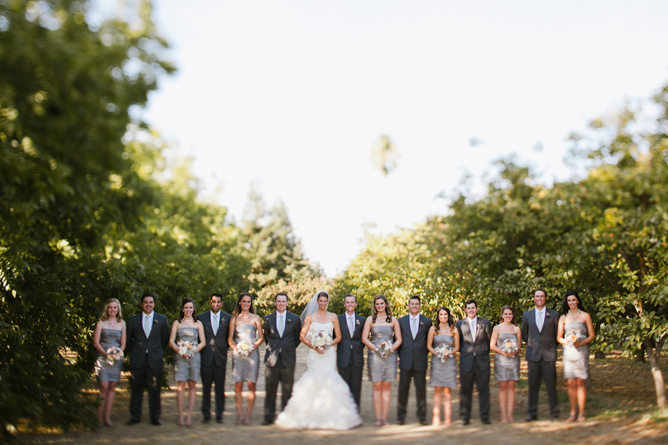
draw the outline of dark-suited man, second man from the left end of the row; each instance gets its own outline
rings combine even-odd
[[[223,423],[225,412],[225,370],[228,365],[228,332],[230,318],[227,312],[221,311],[223,296],[212,294],[209,298],[211,310],[199,314],[198,320],[204,325],[204,336],[207,346],[200,351],[200,374],[202,376],[202,421],[211,421],[211,386],[216,385],[216,421]]]

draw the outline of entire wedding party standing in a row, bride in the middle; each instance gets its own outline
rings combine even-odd
[[[392,314],[388,299],[373,298],[372,315],[356,314],[357,298],[344,298],[345,312],[328,312],[329,293],[319,291],[301,316],[287,311],[288,296],[274,296],[276,311],[260,318],[253,296],[241,293],[232,314],[221,311],[223,297],[214,293],[209,310],[196,313],[192,298],[184,298],[180,315],[168,325],[167,317],[154,312],[156,298],[145,293],[142,312],[123,320],[120,302],[108,300],[95,327],[93,343],[98,358],[95,366],[100,385],[100,423],[111,424],[111,407],[120,380],[122,361],[129,354],[130,419],[141,421],[144,389],[148,389],[150,421],[161,425],[160,394],[164,349],[174,350],[174,378],[177,387],[178,423],[190,426],[196,403],[196,384],[202,380],[203,421],[212,421],[212,387],[215,418],[223,423],[225,373],[228,350],[232,350],[232,378],[236,425],[250,425],[260,373],[260,351],[264,355],[264,420],[283,428],[348,430],[362,424],[360,396],[367,351],[367,377],[372,382],[375,426],[388,425],[390,388],[397,379],[399,394],[396,423],[404,424],[411,380],[415,387],[417,419],[428,425],[427,380],[434,388],[431,425],[452,423],[452,389],[457,385],[456,357],[459,355],[459,414],[468,425],[472,416],[473,387],[479,396],[482,423],[490,419],[490,351],[494,353],[494,377],[503,423],[514,421],[515,385],[520,378],[520,350],[525,343],[528,366],[527,421],[538,419],[541,382],[546,385],[552,419],[559,417],[557,398],[557,346],[562,345],[564,378],[568,383],[571,415],[568,421],[584,421],[585,382],[589,377],[589,343],[594,339],[591,316],[584,312],[578,293],[564,295],[560,313],[546,307],[547,293],[536,289],[535,307],[516,322],[514,308],[500,308],[499,323],[477,316],[475,300],[464,302],[466,317],[454,320],[447,307],[438,307],[434,321],[421,313],[419,296],[408,300],[408,314]],[[307,369],[294,382],[296,348],[309,348]],[[335,347],[336,346],[336,347]],[[431,366],[429,366],[431,355]],[[427,379],[429,371],[429,379]],[[247,384],[244,411],[244,382]],[[280,385],[280,412],[276,414]],[[186,386],[188,410],[184,414]],[[443,410],[442,410],[443,407]]]

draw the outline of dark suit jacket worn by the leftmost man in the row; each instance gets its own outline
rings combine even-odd
[[[148,350],[148,367],[161,368],[163,351],[169,344],[169,326],[167,317],[153,312],[151,333],[146,338],[144,327],[141,325],[143,312],[130,317],[127,321],[127,343],[125,351],[130,353],[130,367],[141,368],[145,362]]]

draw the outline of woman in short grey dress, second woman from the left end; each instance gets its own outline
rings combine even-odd
[[[179,354],[177,343],[180,340],[196,343],[195,354],[192,357],[182,357]],[[196,386],[200,376],[200,350],[205,345],[204,325],[197,319],[195,300],[184,298],[181,302],[179,319],[172,324],[172,332],[169,336],[169,346],[176,353],[174,355],[174,380],[179,384],[176,402],[179,409],[180,426],[191,426],[193,423],[193,410],[195,409],[195,396],[197,395]],[[183,405],[186,383],[188,383],[188,417],[184,422]]]

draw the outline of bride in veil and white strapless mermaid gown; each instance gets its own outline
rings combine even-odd
[[[294,385],[292,397],[276,419],[276,425],[283,428],[349,430],[362,423],[350,389],[335,369],[333,346],[341,341],[341,330],[337,316],[327,312],[328,304],[329,294],[319,291],[301,314],[299,338],[310,350],[306,372]],[[312,340],[319,332],[328,334],[333,339],[331,344],[313,346]]]

